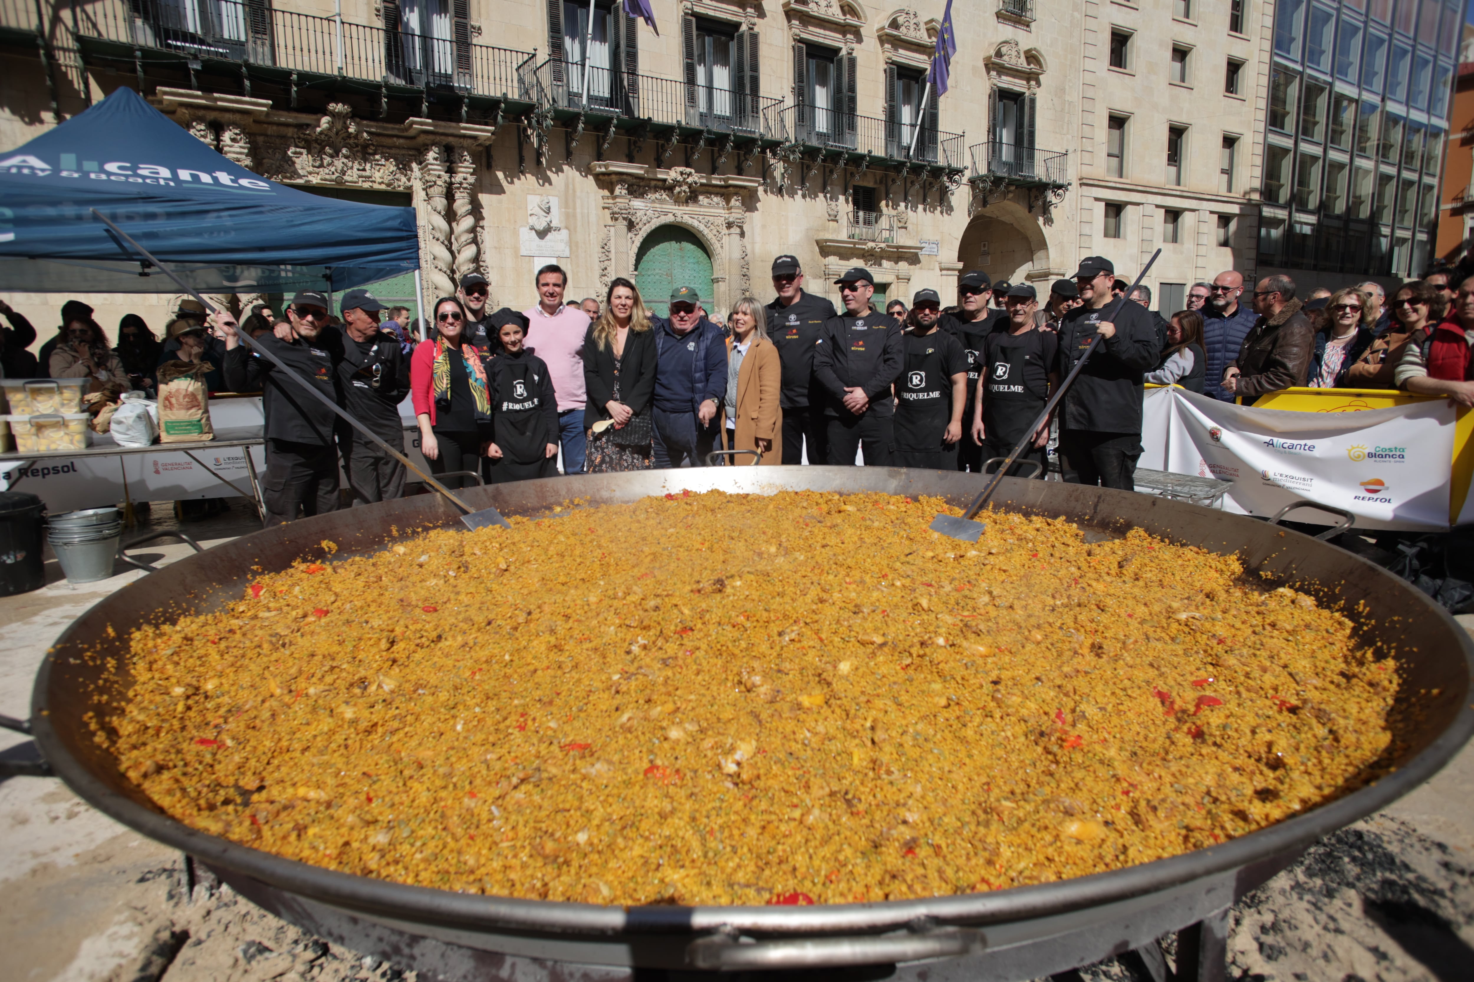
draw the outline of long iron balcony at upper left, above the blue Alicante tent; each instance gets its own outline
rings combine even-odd
[[[236,0],[198,6],[168,0],[105,0],[78,7],[77,15],[84,47],[113,57],[133,59],[133,50],[143,47],[172,52],[192,72],[205,62],[223,62],[265,69],[264,75],[305,72],[397,88],[450,88],[461,96],[532,102],[532,54],[526,52],[339,24],[335,18]]]

